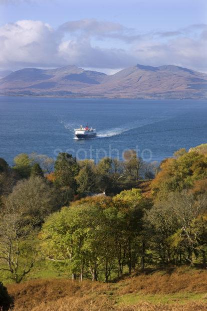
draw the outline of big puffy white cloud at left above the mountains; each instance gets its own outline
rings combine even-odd
[[[61,37],[50,25],[23,20],[0,28],[1,66],[52,65],[60,61]]]

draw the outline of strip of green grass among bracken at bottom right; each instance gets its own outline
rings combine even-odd
[[[117,303],[119,304],[136,304],[138,302],[147,301],[154,304],[163,303],[170,304],[178,302],[179,304],[184,304],[187,301],[192,300],[202,300],[206,299],[205,293],[190,293],[190,292],[178,292],[172,294],[125,294],[121,297],[118,297]]]

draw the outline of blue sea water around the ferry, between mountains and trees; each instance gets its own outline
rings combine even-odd
[[[74,139],[80,125],[97,137]],[[161,161],[181,147],[207,142],[207,103],[194,99],[73,99],[0,97],[0,157],[11,165],[18,153],[78,159],[122,157],[136,149],[144,160]]]

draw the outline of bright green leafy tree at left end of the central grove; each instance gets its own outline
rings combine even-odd
[[[77,274],[83,278],[88,261],[87,248],[84,247],[87,236],[84,224],[88,224],[86,212],[85,208],[62,208],[48,218],[42,229],[42,250],[46,258],[65,264],[72,279]]]

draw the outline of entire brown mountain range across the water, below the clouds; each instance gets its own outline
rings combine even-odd
[[[113,75],[76,66],[25,68],[0,79],[0,95],[207,98],[207,74],[174,65],[136,65]]]

